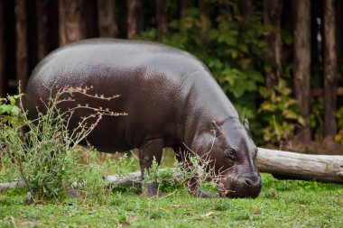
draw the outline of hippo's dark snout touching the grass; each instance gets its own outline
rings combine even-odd
[[[230,198],[255,198],[262,188],[261,177],[227,178],[218,190],[220,196]],[[220,188],[218,188],[220,189]],[[224,189],[224,190],[223,190]]]

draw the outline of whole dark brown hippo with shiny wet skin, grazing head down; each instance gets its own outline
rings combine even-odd
[[[88,104],[127,113],[104,116],[87,140],[107,152],[139,148],[142,174],[153,158],[161,162],[162,148],[172,147],[184,164],[189,163],[184,154],[191,150],[200,157],[208,154],[216,172],[226,170],[218,184],[219,196],[256,197],[261,190],[248,124],[239,121],[209,69],[185,51],[145,41],[75,42],[53,51],[33,70],[25,91],[31,118],[37,116],[36,106],[45,110],[47,87],[93,87],[93,95],[120,95],[110,101],[75,96],[75,102],[60,107]],[[72,119],[70,128],[78,121]],[[199,189],[197,177],[187,185],[193,196],[218,196]],[[146,196],[156,193],[155,183],[143,189]]]

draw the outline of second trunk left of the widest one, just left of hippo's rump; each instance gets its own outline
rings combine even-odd
[[[14,6],[15,12],[15,68],[17,81],[21,83],[21,91],[24,91],[27,79],[29,78],[28,69],[28,36],[27,36],[27,1],[17,0]]]

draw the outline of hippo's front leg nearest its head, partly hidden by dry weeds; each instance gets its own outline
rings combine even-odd
[[[183,169],[190,170],[195,169],[191,162],[190,162],[190,153],[183,145],[178,145],[173,147],[173,150],[176,155],[176,159],[182,163]],[[213,198],[218,197],[218,194],[209,193],[199,187],[199,175],[195,174],[195,176],[189,178],[186,181],[187,189],[190,192],[191,196],[199,197],[199,198]]]

